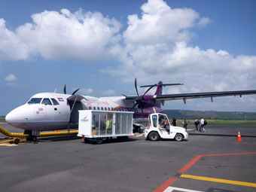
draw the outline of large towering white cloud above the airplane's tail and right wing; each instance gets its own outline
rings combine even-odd
[[[255,89],[256,56],[232,56],[226,50],[187,45],[193,37],[190,29],[211,21],[192,9],[148,1],[142,5],[141,18],[128,17],[123,32],[126,54],[118,52],[123,65],[102,72],[120,75],[122,81],[136,77],[141,83],[184,83],[175,93]]]

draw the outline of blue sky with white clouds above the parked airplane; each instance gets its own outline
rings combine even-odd
[[[134,96],[135,78],[184,84],[165,94],[256,90],[255,10],[254,0],[0,0],[0,115],[64,84],[96,97]],[[256,96],[163,108],[256,112]]]

